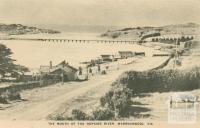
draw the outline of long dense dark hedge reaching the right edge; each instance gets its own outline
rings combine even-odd
[[[126,86],[135,93],[188,91],[200,88],[200,70],[129,71],[120,76],[113,86]]]

